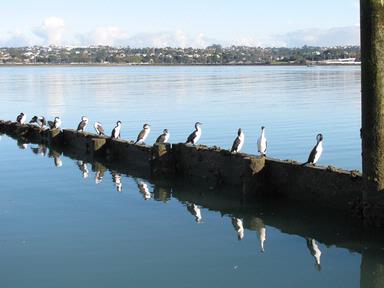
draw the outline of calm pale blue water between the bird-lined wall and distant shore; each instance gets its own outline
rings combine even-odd
[[[200,121],[202,144],[230,148],[241,127],[248,153],[264,125],[269,156],[298,161],[321,132],[320,165],[361,167],[360,67],[2,67],[0,118],[21,111],[66,128],[82,115],[107,131],[121,120],[127,139],[150,123],[148,143],[164,128],[184,142]]]

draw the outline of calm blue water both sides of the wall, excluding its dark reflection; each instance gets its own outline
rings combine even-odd
[[[1,68],[0,113],[82,114],[123,137],[152,124],[229,147],[304,161],[325,135],[323,165],[360,168],[358,67]],[[56,151],[0,140],[2,287],[381,287],[384,233],[301,203],[244,202],[230,191],[151,180]],[[134,174],[134,173],[133,173]],[[228,195],[227,195],[228,194]],[[264,250],[264,252],[262,252]],[[321,256],[319,254],[321,252]]]

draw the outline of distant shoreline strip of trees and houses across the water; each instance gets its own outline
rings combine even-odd
[[[21,47],[0,48],[0,64],[306,64],[332,59],[360,61],[359,46],[261,48],[247,46],[197,48]]]

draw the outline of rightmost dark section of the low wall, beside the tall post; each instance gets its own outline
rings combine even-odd
[[[349,209],[362,197],[362,177],[356,172],[268,158],[264,173],[270,193],[295,200]]]

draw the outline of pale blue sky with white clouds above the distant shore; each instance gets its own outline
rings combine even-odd
[[[0,46],[358,44],[358,0],[4,1]]]

